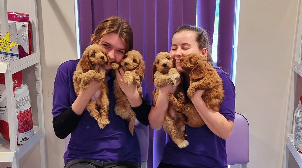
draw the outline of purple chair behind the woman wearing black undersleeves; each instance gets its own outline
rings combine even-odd
[[[135,120],[134,130],[139,138],[139,146],[142,153],[142,163],[139,163],[141,168],[147,168],[148,148],[149,148],[149,126],[141,124],[137,119]],[[71,134],[65,138],[65,152],[69,143]]]

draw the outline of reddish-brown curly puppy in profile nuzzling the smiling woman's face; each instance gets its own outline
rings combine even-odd
[[[205,90],[202,97],[209,109],[219,112],[224,97],[222,79],[204,55],[192,53],[180,59],[180,66],[190,71],[191,85],[187,91],[192,98],[197,90]]]

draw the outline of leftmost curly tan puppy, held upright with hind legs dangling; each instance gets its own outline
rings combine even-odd
[[[100,89],[91,97],[86,106],[90,115],[98,121],[100,128],[104,128],[110,123],[108,120],[108,86],[104,69],[104,65],[108,65],[108,60],[109,58],[103,47],[97,44],[90,45],[84,51],[73,76],[74,89],[77,95],[79,95],[80,88],[88,89],[91,80],[101,81]],[[100,65],[98,70],[94,70],[96,65]]]

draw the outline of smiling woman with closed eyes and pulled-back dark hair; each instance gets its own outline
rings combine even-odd
[[[204,55],[208,63],[213,65],[208,33],[201,27],[180,26],[172,37],[170,54],[176,62],[177,70],[184,76],[185,94],[190,86],[190,76],[189,72],[180,66],[180,60],[191,53]],[[209,109],[201,98],[204,90],[197,90],[191,101],[205,124],[199,128],[185,125],[186,140],[189,142],[186,148],[180,149],[169,137],[158,168],[228,167],[225,139],[230,137],[235,119],[235,86],[222,69],[214,68],[222,79],[225,91],[219,112]],[[180,80],[177,82],[177,85],[179,84]],[[149,114],[151,128],[155,130],[162,128],[169,103],[167,93],[174,93],[176,88],[177,86],[156,88],[160,90],[160,94]]]

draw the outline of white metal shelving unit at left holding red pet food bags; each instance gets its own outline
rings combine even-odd
[[[39,32],[38,32],[38,18],[36,0],[30,0],[29,19],[32,22],[32,41],[33,54],[21,58],[16,64],[10,65],[0,63],[0,73],[5,73],[5,86],[7,90],[7,109],[9,111],[9,138],[10,143],[0,145],[0,162],[11,162],[12,168],[19,168],[19,159],[26,155],[34,145],[40,143],[41,154],[41,168],[46,168],[46,150],[45,150],[45,131],[44,131],[44,117],[43,117],[43,97],[42,97],[42,81],[41,79],[41,64],[40,64],[40,48],[39,48]],[[0,18],[1,30],[7,32],[8,17],[7,17],[7,0],[0,0]],[[4,33],[2,33],[4,34]],[[12,74],[35,66],[36,75],[36,96],[37,96],[37,115],[38,125],[34,125],[34,135],[29,138],[23,145],[17,145],[17,123],[15,113],[15,97],[13,96]],[[33,103],[32,103],[33,104]],[[33,111],[34,113],[34,111]],[[1,164],[1,163],[0,163]]]

